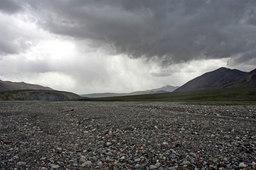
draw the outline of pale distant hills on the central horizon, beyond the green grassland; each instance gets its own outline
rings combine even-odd
[[[145,91],[135,91],[135,92],[130,92],[130,93],[98,93],[98,94],[86,94],[86,95],[80,95],[82,97],[117,97],[117,96],[131,96],[131,95],[147,95],[147,94],[162,94],[162,93],[168,93],[176,90],[178,86],[164,86],[161,88],[155,88],[152,90],[145,90]]]

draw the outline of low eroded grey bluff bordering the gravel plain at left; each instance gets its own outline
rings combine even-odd
[[[0,100],[77,100],[81,97],[71,92],[63,91],[11,91],[0,94]]]

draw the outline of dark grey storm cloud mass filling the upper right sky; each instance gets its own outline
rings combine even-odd
[[[255,1],[25,1],[43,29],[163,65],[255,58]],[[98,46],[100,48],[100,46]],[[239,57],[237,57],[239,56]]]

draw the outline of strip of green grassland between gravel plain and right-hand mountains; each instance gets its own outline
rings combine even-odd
[[[84,98],[90,101],[168,101],[195,104],[256,104],[256,87],[213,88],[164,94]]]

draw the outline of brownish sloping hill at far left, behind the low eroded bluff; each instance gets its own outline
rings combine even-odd
[[[40,86],[38,84],[29,84],[24,82],[10,82],[0,80],[0,91],[9,90],[53,90],[49,87]]]

